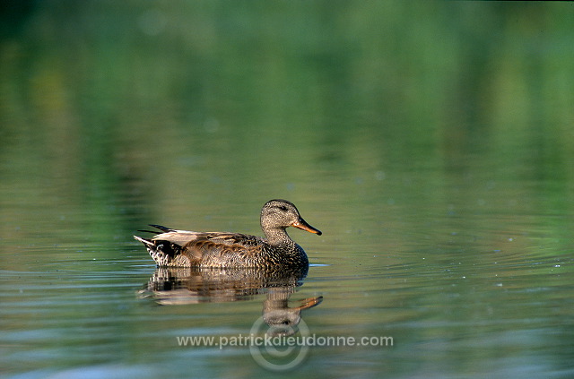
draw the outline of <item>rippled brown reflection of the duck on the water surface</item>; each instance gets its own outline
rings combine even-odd
[[[289,299],[302,285],[308,268],[273,270],[158,267],[139,294],[152,297],[164,306],[197,303],[222,303],[250,300],[265,294],[263,319],[275,332],[292,330],[300,323],[300,313],[317,306],[323,297],[300,300],[289,306]]]

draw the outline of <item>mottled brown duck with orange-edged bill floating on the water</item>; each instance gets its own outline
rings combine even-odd
[[[321,236],[303,220],[292,202],[274,199],[261,209],[264,237],[230,232],[195,232],[150,224],[160,231],[152,238],[134,236],[143,243],[159,267],[198,268],[298,268],[308,267],[303,248],[286,228],[300,228]],[[149,230],[141,230],[149,232]]]

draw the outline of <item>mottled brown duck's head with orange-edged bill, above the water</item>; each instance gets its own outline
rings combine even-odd
[[[322,234],[319,229],[311,227],[307,221],[303,220],[292,202],[282,199],[265,202],[261,210],[261,228],[263,231],[289,227],[307,230],[317,234],[317,236]]]

